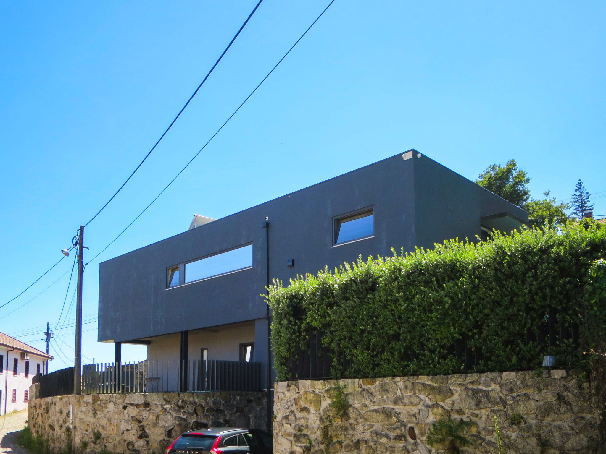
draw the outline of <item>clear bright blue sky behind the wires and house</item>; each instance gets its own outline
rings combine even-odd
[[[3,5],[0,303],[61,257],[255,3]],[[89,258],[199,150],[327,3],[262,3],[161,145],[87,227]],[[579,178],[596,197],[604,195],[605,22],[600,1],[336,0],[98,261],[184,231],[194,213],[219,218],[409,148],[470,179],[514,158],[536,197],[550,189],[558,200],[570,199]],[[606,197],[594,202],[594,212],[606,215]],[[98,261],[85,272],[88,321],[97,313]],[[66,258],[0,309],[0,331],[55,326],[69,273],[28,301],[70,266]],[[71,299],[72,290],[66,309]],[[73,312],[52,344],[58,360],[51,369],[65,367],[61,357],[73,361]],[[113,346],[96,343],[95,326],[84,326],[84,361],[112,361]],[[21,339],[43,348],[39,338]],[[142,347],[122,352],[126,361],[144,355]]]

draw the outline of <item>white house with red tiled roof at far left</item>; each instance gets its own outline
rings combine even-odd
[[[27,409],[28,389],[36,373],[53,357],[0,332],[0,415]]]

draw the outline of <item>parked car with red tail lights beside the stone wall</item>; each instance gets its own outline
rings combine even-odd
[[[182,433],[166,449],[166,454],[195,454],[200,452],[271,454],[272,451],[273,438],[263,430],[217,427],[215,429],[195,429]]]

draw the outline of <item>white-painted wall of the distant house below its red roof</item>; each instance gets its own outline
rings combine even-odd
[[[25,391],[32,386],[32,377],[36,375],[36,364],[44,364],[44,358],[37,355],[29,354],[29,373],[25,377],[25,360],[21,359],[20,350],[10,350],[7,347],[0,347],[0,355],[2,355],[2,373],[0,373],[0,390],[2,390],[2,398],[0,400],[0,415],[19,410],[27,409],[27,401],[25,401]],[[13,360],[17,358],[17,374],[13,374]],[[13,389],[16,390],[16,399],[13,402]]]

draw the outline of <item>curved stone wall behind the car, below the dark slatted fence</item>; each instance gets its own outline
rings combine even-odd
[[[87,453],[164,454],[190,429],[265,429],[266,402],[264,392],[233,391],[57,396],[30,401],[28,426],[52,452],[73,443]]]

